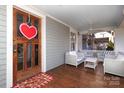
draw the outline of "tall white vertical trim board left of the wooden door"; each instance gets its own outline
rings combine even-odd
[[[7,75],[6,87],[13,85],[13,6],[7,5]]]

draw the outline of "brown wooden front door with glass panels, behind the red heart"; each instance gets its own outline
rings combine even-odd
[[[37,28],[37,35],[29,40],[20,30],[21,23]],[[41,72],[41,19],[13,9],[13,81],[29,78]]]

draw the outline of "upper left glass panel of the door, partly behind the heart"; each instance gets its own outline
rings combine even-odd
[[[23,37],[23,35],[21,34],[21,32],[19,30],[20,24],[23,23],[23,15],[17,14],[16,16],[17,16],[17,36]]]

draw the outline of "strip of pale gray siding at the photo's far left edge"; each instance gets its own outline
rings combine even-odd
[[[0,87],[6,87],[6,6],[0,5]]]

